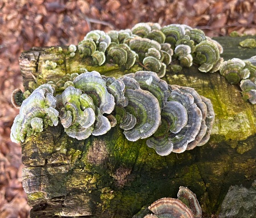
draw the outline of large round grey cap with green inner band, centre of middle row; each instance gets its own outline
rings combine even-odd
[[[125,110],[137,119],[135,127],[124,131],[125,137],[129,141],[137,141],[138,139],[145,139],[153,135],[161,121],[161,110],[158,100],[149,91],[141,89],[127,89],[125,97],[129,101]]]

